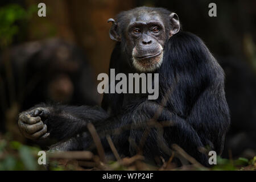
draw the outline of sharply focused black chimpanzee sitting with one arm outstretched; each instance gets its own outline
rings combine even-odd
[[[37,105],[19,115],[30,139],[55,138],[53,150],[91,150],[109,138],[121,156],[168,160],[177,144],[208,166],[202,148],[221,154],[229,128],[224,72],[203,41],[180,31],[179,18],[163,8],[137,7],[109,19],[117,41],[110,68],[116,73],[158,73],[159,97],[105,93],[102,106]],[[93,130],[92,126],[94,126]]]

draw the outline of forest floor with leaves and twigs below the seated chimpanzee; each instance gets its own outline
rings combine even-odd
[[[253,159],[223,159],[217,157],[217,164],[211,168],[202,166],[195,159],[183,153],[187,164],[176,167],[172,163],[173,156],[168,161],[162,160],[161,166],[146,163],[143,156],[119,158],[106,161],[104,156],[93,155],[89,151],[47,152],[47,165],[39,165],[39,147],[31,147],[9,140],[0,135],[0,170],[225,170],[225,171],[256,171],[256,156]],[[184,151],[181,151],[181,153]]]

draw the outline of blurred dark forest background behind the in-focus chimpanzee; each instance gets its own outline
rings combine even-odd
[[[37,14],[46,4],[46,17]],[[209,17],[208,5],[217,5]],[[226,74],[232,126],[226,158],[256,151],[256,1],[0,1],[0,134],[28,143],[17,117],[39,102],[100,104],[98,73],[108,72],[114,42],[109,18],[137,6],[165,7],[184,31],[204,40]],[[218,132],[218,131],[216,131]]]

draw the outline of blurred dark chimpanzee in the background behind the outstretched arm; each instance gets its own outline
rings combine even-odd
[[[98,103],[93,71],[75,45],[51,38],[27,42],[0,55],[0,132],[16,128],[16,115],[40,102]]]

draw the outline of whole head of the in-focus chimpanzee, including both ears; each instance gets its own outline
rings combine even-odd
[[[122,42],[131,64],[137,71],[152,72],[163,61],[164,44],[179,31],[179,19],[175,13],[164,15],[157,11],[127,11],[119,23],[114,19],[110,38]]]

